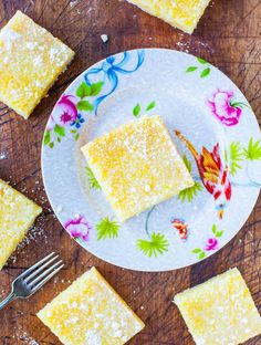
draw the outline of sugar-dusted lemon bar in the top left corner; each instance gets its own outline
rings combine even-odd
[[[74,52],[18,11],[0,31],[0,101],[28,118]]]

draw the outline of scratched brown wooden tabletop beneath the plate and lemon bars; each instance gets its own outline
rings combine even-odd
[[[0,272],[0,297],[6,295],[14,276],[51,251],[60,252],[66,265],[44,290],[28,301],[13,302],[0,313],[0,344],[60,344],[35,313],[93,265],[146,323],[144,332],[129,344],[192,344],[171,299],[175,293],[231,266],[241,270],[261,311],[261,199],[238,236],[208,260],[168,273],[137,273],[96,259],[70,239],[46,200],[40,165],[43,130],[64,88],[96,61],[134,48],[170,48],[207,59],[242,90],[261,123],[260,0],[216,0],[191,36],[126,1],[1,0],[0,27],[17,10],[66,42],[76,51],[76,58],[29,121],[0,104],[0,153],[7,156],[0,159],[0,177],[44,208],[29,243]],[[103,33],[109,35],[106,44],[100,38]],[[261,344],[261,337],[248,344]]]

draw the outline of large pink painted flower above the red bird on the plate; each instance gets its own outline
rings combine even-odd
[[[217,91],[212,98],[208,100],[208,105],[213,115],[226,126],[237,125],[242,113],[242,106],[246,106],[242,102],[234,102],[232,98],[232,91]]]

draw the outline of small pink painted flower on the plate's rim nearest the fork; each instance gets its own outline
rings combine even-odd
[[[83,216],[76,216],[74,219],[66,221],[64,228],[72,238],[80,238],[84,241],[88,240],[88,232],[92,229]]]

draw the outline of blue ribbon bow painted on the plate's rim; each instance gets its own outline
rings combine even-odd
[[[97,74],[97,73],[102,72],[104,74],[104,82],[106,82],[106,80],[107,80],[112,86],[112,88],[109,90],[108,93],[106,93],[105,95],[97,97],[95,100],[95,102],[93,104],[95,115],[97,115],[98,105],[117,88],[118,73],[130,74],[130,73],[134,73],[135,71],[137,71],[144,62],[145,51],[144,50],[137,51],[137,63],[130,70],[126,69],[126,64],[128,63],[129,59],[130,59],[130,52],[124,52],[123,59],[118,63],[115,63],[115,56],[109,56],[109,58],[105,59],[105,61],[102,63],[101,67],[91,69],[84,75],[85,82],[88,85],[91,85],[92,83],[90,81],[90,75],[91,74]]]

